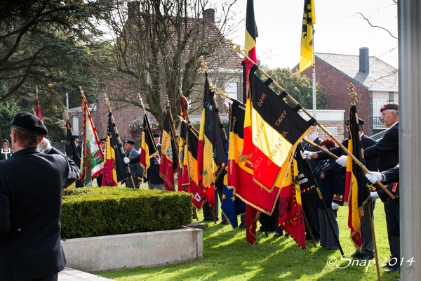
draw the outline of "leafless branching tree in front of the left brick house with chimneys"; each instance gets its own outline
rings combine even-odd
[[[173,116],[179,112],[180,93],[193,98],[203,91],[204,75],[199,57],[206,58],[212,81],[221,83],[229,72],[240,71],[240,61],[227,44],[225,34],[230,4],[220,19],[208,9],[207,0],[140,0],[119,3],[107,18],[115,41],[116,72],[109,79],[111,98],[117,107],[140,107],[137,94],[146,101],[146,110],[163,124],[168,95]],[[225,33],[224,33],[225,32]]]

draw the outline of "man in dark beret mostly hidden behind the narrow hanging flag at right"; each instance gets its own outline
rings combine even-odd
[[[370,138],[363,133],[364,120],[359,118],[358,123],[359,123],[359,130],[361,131],[361,142],[363,143],[363,148],[365,149],[365,148],[369,148],[372,145],[375,145],[376,141],[373,140],[373,138]],[[345,125],[347,126],[346,128],[348,131],[349,119],[345,120]],[[348,138],[345,138],[344,141],[342,141],[342,145],[344,145],[345,148],[348,148]],[[342,150],[342,148],[340,147],[331,148],[329,152],[332,152],[333,155],[336,155],[340,158],[342,155],[342,159],[345,159],[345,166],[346,166],[347,156],[346,156],[345,151]],[[301,154],[301,156],[304,158],[303,155],[307,156],[307,158],[311,157],[311,159],[319,159],[319,160],[330,159],[330,156],[326,155],[325,153],[321,151],[319,152],[305,151]],[[338,164],[343,166],[342,164],[344,163],[338,162]],[[366,159],[366,167],[370,171],[377,171],[377,159],[376,158]],[[344,177],[344,182],[345,182],[345,169],[342,169],[342,176]],[[372,207],[371,207],[371,214],[373,214],[373,209],[374,209],[374,204],[372,204]],[[371,233],[370,217],[368,216],[368,204],[364,204],[363,211],[364,211],[364,216],[361,216],[361,236],[363,239],[362,247],[361,247],[362,249],[361,249],[361,252],[358,250],[355,251],[355,253],[352,254],[352,257],[357,258],[357,259],[367,260],[367,259],[373,259],[374,257],[373,235]]]

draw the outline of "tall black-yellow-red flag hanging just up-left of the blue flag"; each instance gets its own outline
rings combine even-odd
[[[197,164],[200,187],[205,191],[215,182],[218,165],[225,162],[226,141],[218,105],[216,105],[213,91],[209,89],[208,74],[205,73],[205,91],[203,96],[203,110],[199,131],[199,148]]]

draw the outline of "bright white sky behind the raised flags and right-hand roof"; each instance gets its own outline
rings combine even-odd
[[[216,14],[222,2],[210,0]],[[236,44],[244,45],[244,18],[247,0],[237,0],[231,15],[241,21],[235,34],[229,35]],[[315,0],[314,50],[316,53],[359,55],[359,48],[368,47],[376,56],[398,67],[397,39],[385,30],[370,27],[362,13],[373,25],[387,28],[397,37],[397,5],[392,0]],[[271,68],[294,67],[300,59],[300,36],[304,0],[255,0],[255,20],[259,37],[258,59]],[[218,11],[219,10],[219,11]]]

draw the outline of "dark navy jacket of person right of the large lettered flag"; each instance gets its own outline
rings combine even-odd
[[[332,208],[332,201],[340,204],[340,200],[333,200],[333,195],[342,195],[342,190],[344,189],[342,171],[335,159],[322,160],[319,165],[316,166],[316,169],[314,169],[313,174],[316,178],[317,185],[319,185],[326,208]],[[317,207],[323,207],[320,200],[318,201]]]

